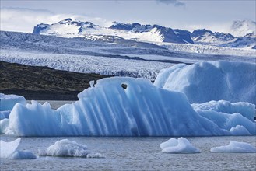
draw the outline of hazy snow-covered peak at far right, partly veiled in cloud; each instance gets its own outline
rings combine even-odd
[[[249,20],[234,21],[230,27],[230,33],[236,37],[244,37],[246,35],[256,35],[256,22]]]

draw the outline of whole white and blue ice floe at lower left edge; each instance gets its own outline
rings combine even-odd
[[[20,138],[15,141],[0,141],[0,158],[1,159],[36,159],[37,156],[30,151],[17,150]]]

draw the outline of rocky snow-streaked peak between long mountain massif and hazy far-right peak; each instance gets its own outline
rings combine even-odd
[[[235,40],[235,37],[230,33],[213,33],[211,30],[194,30],[191,33],[191,38],[195,44],[226,44]]]

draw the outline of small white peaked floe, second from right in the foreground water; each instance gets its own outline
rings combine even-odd
[[[162,152],[166,153],[199,153],[198,148],[195,148],[186,138],[170,138],[170,140],[160,144]]]

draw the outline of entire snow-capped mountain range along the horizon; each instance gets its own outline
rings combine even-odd
[[[251,24],[251,25],[250,25]],[[175,43],[175,44],[205,44],[217,47],[240,47],[251,49],[256,45],[256,37],[252,28],[254,22],[235,22],[233,30],[246,30],[243,37],[234,37],[230,33],[212,32],[211,30],[187,30],[172,29],[160,25],[142,25],[140,23],[117,23],[110,27],[103,27],[91,22],[82,22],[72,19],[64,19],[51,25],[41,23],[34,27],[34,34],[44,34],[57,37],[83,37],[86,40],[108,41],[126,39],[142,42]],[[249,26],[250,25],[250,26]]]

